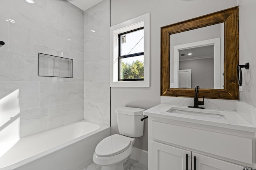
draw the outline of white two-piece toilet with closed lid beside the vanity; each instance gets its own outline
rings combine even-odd
[[[96,146],[93,154],[94,163],[101,170],[127,170],[124,163],[130,158],[132,147],[137,137],[143,135],[144,109],[117,107],[116,117],[119,134],[106,137]]]

